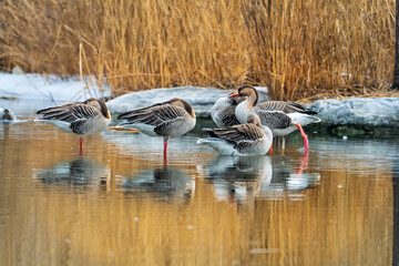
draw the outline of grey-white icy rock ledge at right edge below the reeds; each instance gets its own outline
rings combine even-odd
[[[307,108],[318,112],[324,124],[399,127],[398,98],[320,100]]]

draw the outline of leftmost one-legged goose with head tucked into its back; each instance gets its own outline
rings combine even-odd
[[[111,115],[105,103],[91,98],[84,102],[75,102],[61,106],[43,109],[37,112],[42,114],[41,121],[52,124],[65,133],[75,133],[80,137],[80,153],[83,153],[83,137],[105,130]]]

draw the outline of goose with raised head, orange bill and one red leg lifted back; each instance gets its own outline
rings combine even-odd
[[[239,122],[245,121],[249,113],[255,113],[260,117],[262,124],[270,127],[275,136],[288,135],[298,127],[304,139],[305,150],[309,149],[307,135],[301,126],[320,122],[320,119],[311,115],[316,112],[308,111],[300,104],[293,102],[268,101],[256,105],[258,93],[250,85],[241,86],[231,94],[231,98],[236,96],[246,98],[235,110]]]

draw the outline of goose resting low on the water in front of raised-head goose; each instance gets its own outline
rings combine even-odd
[[[260,124],[256,114],[249,114],[246,124],[203,130],[211,137],[201,139],[197,143],[215,149],[221,155],[265,155],[272,146],[273,133]]]

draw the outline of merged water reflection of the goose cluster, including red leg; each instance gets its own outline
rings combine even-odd
[[[255,197],[282,198],[316,186],[320,175],[305,173],[307,164],[308,153],[305,153],[299,165],[268,156],[219,156],[207,165],[207,170],[216,198],[239,204]]]

